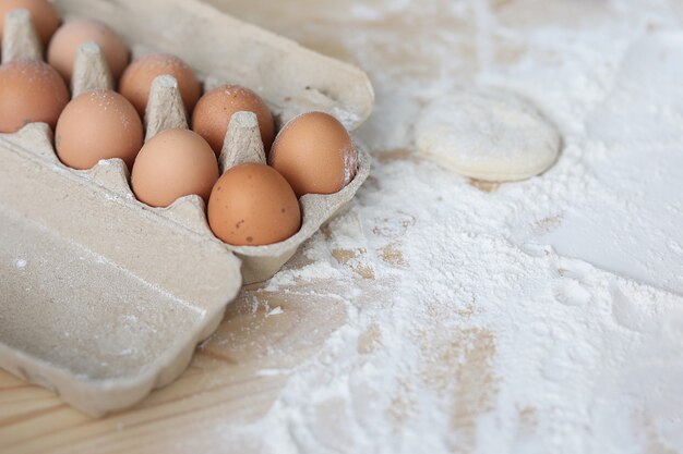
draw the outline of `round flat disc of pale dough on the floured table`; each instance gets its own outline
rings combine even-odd
[[[527,101],[494,90],[463,91],[430,105],[416,125],[419,152],[471,179],[525,180],[560,155],[555,127]]]

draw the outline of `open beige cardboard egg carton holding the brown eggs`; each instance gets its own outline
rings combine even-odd
[[[97,19],[121,33],[133,56],[175,53],[211,89],[259,93],[281,126],[311,110],[347,128],[370,114],[373,93],[360,70],[316,54],[194,0],[58,0],[62,17]],[[2,60],[43,58],[25,11],[5,19]],[[83,45],[72,94],[110,88],[99,48]],[[146,138],[187,119],[171,76],[154,81]],[[125,164],[64,167],[43,123],[0,134],[0,367],[103,416],[172,382],[199,342],[220,323],[242,283],[271,278],[351,200],[370,171],[359,150],[354,181],[337,194],[300,198],[301,230],[268,246],[230,246],[211,232],[204,200],[152,208],[135,199]],[[264,162],[255,115],[236,113],[221,171]]]

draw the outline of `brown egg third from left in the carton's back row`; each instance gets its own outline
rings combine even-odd
[[[178,89],[188,112],[192,112],[202,93],[194,72],[178,57],[155,53],[135,60],[123,72],[119,82],[119,91],[135,106],[141,115],[145,114],[152,83],[157,76],[171,75],[178,81]]]

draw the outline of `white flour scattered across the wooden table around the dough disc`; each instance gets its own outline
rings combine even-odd
[[[269,283],[331,279],[348,322],[308,363],[281,371],[289,380],[261,420],[213,428],[223,445],[203,433],[187,447],[683,451],[683,148],[669,139],[683,131],[683,82],[658,72],[683,72],[683,8],[321,1],[283,2],[267,16],[260,2],[235,3],[369,72],[378,108],[360,135],[379,159],[350,212],[307,244],[313,263]],[[659,29],[672,32],[639,44]],[[625,74],[638,46],[647,54],[635,61],[649,66]],[[658,65],[660,51],[676,60]],[[657,85],[643,90],[650,76]],[[563,155],[543,177],[489,193],[409,157],[421,106],[475,83],[523,95],[556,124]],[[650,194],[648,182],[662,179],[667,187]],[[544,240],[565,220],[570,232]],[[337,249],[355,254],[339,262]]]

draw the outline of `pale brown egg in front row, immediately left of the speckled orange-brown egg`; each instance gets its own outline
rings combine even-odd
[[[140,150],[131,186],[140,201],[168,207],[191,194],[208,200],[216,180],[218,162],[206,140],[192,131],[167,130]]]

